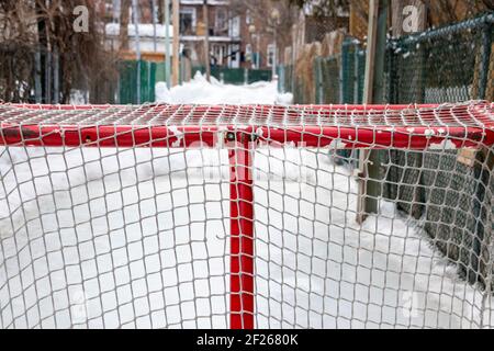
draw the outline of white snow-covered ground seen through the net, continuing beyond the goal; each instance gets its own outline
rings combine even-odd
[[[172,101],[277,99],[206,88]],[[254,168],[259,328],[494,326],[392,203],[356,224],[352,170],[328,150],[259,149]],[[225,151],[2,148],[0,177],[0,328],[227,327]]]

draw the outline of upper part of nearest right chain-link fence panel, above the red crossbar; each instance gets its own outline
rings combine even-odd
[[[444,103],[487,97],[494,15],[388,44],[390,103]]]

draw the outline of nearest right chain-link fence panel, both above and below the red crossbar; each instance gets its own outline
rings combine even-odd
[[[386,101],[393,104],[492,101],[493,23],[491,13],[390,41]],[[494,156],[481,152],[465,162],[462,152],[382,152],[383,169],[388,170],[384,195],[396,201],[401,211],[423,218],[434,245],[458,264],[461,275],[472,284],[485,286],[492,275],[489,247],[494,206],[494,179],[486,172],[489,168],[492,170]],[[446,208],[446,203],[456,204],[456,208]]]

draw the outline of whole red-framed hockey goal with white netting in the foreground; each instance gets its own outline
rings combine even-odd
[[[490,103],[1,104],[0,127],[0,328],[494,325]]]

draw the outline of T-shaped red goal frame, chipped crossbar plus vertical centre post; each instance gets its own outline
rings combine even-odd
[[[0,104],[9,147],[225,148],[231,162],[232,328],[255,327],[252,151],[492,148],[494,104],[442,105],[33,105]]]

